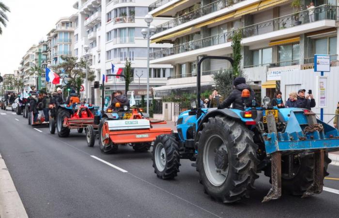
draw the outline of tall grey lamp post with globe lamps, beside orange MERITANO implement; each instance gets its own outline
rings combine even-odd
[[[150,113],[150,37],[154,35],[156,28],[151,23],[153,21],[153,16],[150,14],[147,14],[144,18],[145,22],[147,23],[147,29],[143,28],[141,30],[142,35],[144,36],[144,39],[147,39],[147,106],[146,106],[146,112]]]

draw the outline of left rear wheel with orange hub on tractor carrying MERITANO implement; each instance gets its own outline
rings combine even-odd
[[[99,124],[99,147],[100,151],[104,154],[112,154],[117,152],[119,145],[114,144],[108,136],[108,126],[105,125],[105,121],[108,120],[107,117],[101,119]]]

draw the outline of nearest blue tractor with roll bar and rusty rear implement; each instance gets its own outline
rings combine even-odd
[[[200,102],[198,62],[197,100]],[[246,97],[244,97],[246,101]],[[339,133],[316,119],[307,109],[268,106],[244,109],[201,108],[196,100],[182,112],[177,133],[160,135],[154,141],[154,172],[161,179],[177,176],[180,159],[189,159],[200,174],[205,192],[219,202],[238,202],[249,197],[258,173],[270,177],[272,188],[263,202],[282,193],[307,197],[323,190],[331,162],[329,151],[339,150]]]

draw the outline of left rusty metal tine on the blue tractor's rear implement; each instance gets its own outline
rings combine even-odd
[[[277,126],[273,114],[267,116],[268,132],[276,132]],[[269,202],[271,200],[279,199],[281,197],[281,153],[275,152],[271,155],[271,179],[272,187],[262,202]]]

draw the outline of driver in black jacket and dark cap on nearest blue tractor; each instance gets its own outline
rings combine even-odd
[[[233,109],[243,110],[245,108],[244,100],[241,97],[241,94],[244,89],[247,89],[250,92],[250,98],[255,99],[255,93],[249,85],[246,84],[246,79],[243,77],[235,78],[233,81],[234,90],[230,96],[224,100],[218,109],[229,108],[232,104]]]

